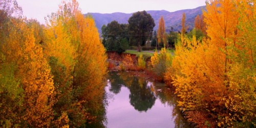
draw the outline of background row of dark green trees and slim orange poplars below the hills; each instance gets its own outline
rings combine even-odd
[[[164,47],[175,49],[179,33],[186,33],[189,37],[193,35],[192,31],[186,31],[185,14],[183,14],[183,17],[183,29],[175,32],[171,27],[167,33],[163,16],[159,19],[158,30],[154,31],[155,21],[152,16],[146,11],[139,11],[129,18],[129,24],[119,24],[116,20],[113,20],[108,25],[103,25],[101,27],[102,44],[106,50],[118,53],[122,53],[126,49],[141,51],[141,47],[146,50]],[[195,18],[196,36],[198,38],[206,36],[203,18],[203,15],[201,17],[198,15]]]

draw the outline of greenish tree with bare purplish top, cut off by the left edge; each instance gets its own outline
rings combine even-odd
[[[14,7],[16,9],[14,9]],[[17,60],[20,58],[19,41],[24,41],[17,32],[20,20],[12,15],[22,13],[16,1],[0,2],[0,126],[18,126],[22,120],[24,90],[16,76]],[[17,28],[16,28],[17,27]],[[11,36],[15,35],[13,38]],[[20,40],[19,40],[20,39]],[[15,48],[16,47],[16,48]]]

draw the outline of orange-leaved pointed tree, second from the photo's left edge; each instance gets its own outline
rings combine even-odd
[[[42,49],[34,42],[32,33],[28,34],[24,44],[23,59],[18,62],[18,74],[22,79],[25,93],[26,113],[23,119],[31,126],[50,126],[54,104],[53,80]]]

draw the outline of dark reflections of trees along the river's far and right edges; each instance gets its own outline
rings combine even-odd
[[[110,72],[109,75],[109,91],[119,94],[122,87],[129,89],[130,104],[136,111],[150,112],[148,110],[153,110],[153,106],[155,104],[159,105],[160,101],[164,106],[166,105],[171,109],[169,116],[172,119],[169,121],[174,121],[175,124],[173,126],[189,127],[180,114],[179,107],[177,106],[177,96],[174,94],[174,91],[165,87],[164,83],[146,81],[127,72]],[[156,100],[159,100],[158,104]]]

